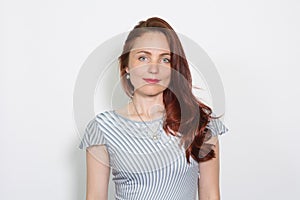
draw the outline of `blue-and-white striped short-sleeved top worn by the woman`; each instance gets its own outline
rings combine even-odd
[[[198,163],[185,157],[179,137],[167,135],[163,118],[135,121],[114,110],[97,114],[86,126],[79,148],[105,145],[117,200],[195,200]],[[207,126],[214,136],[228,129],[219,119]]]

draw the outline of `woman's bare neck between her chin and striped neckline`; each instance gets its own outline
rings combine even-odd
[[[163,96],[139,96],[135,94],[132,97],[132,103],[129,105],[129,113],[133,116],[139,115],[144,120],[161,117],[165,111]]]

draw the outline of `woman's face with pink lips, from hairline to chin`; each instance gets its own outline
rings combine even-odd
[[[135,93],[154,96],[162,93],[171,78],[171,54],[166,36],[148,32],[135,39],[126,72]]]

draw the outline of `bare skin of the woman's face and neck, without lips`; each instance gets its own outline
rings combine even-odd
[[[134,86],[133,102],[119,110],[119,114],[133,120],[150,121],[164,112],[163,91],[171,78],[170,48],[164,34],[149,32],[137,38],[129,54],[126,72]],[[147,83],[144,78],[159,79],[156,84]]]

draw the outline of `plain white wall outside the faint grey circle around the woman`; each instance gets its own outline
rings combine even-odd
[[[82,200],[73,89],[89,54],[150,16],[215,63],[226,94],[224,200],[297,199],[299,1],[1,1],[2,199]]]

